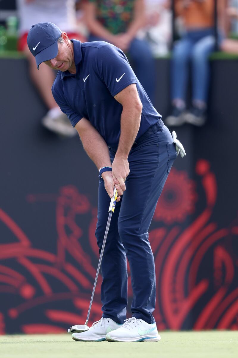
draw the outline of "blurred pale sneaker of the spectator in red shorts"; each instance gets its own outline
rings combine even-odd
[[[69,118],[60,110],[50,110],[42,118],[42,125],[50,131],[64,137],[74,137],[77,135],[76,129],[72,127]]]

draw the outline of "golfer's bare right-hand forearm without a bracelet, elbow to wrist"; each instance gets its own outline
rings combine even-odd
[[[142,105],[123,107],[121,113],[121,135],[116,156],[128,158],[131,147],[136,139],[141,122]]]

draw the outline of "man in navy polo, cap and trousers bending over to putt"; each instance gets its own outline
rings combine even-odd
[[[148,229],[173,161],[179,151],[185,155],[183,146],[175,133],[172,138],[119,48],[103,41],[69,40],[52,23],[32,25],[27,44],[38,68],[44,62],[59,70],[53,96],[98,168],[100,252],[114,187],[118,191],[101,262],[102,318],[72,338],[157,342],[160,336],[152,315],[155,264]],[[133,289],[129,319],[126,256]]]

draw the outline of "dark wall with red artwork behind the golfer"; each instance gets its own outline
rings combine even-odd
[[[211,62],[207,124],[176,129],[187,155],[150,229],[159,329],[238,329],[237,65]],[[77,137],[40,125],[46,109],[26,61],[0,59],[0,68],[0,333],[65,332],[86,319],[98,262],[97,170]],[[169,61],[158,60],[163,117],[168,76]],[[101,316],[100,281],[91,323]]]

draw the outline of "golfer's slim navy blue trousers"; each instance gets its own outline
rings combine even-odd
[[[168,173],[176,158],[172,136],[166,126],[130,151],[130,174],[126,191],[116,203],[102,258],[101,300],[103,317],[117,323],[126,319],[127,262],[130,264],[133,301],[132,315],[154,323],[156,301],[155,262],[148,229]],[[110,149],[111,161],[115,152]],[[104,182],[98,188],[96,238],[99,251],[108,218],[108,196]]]

